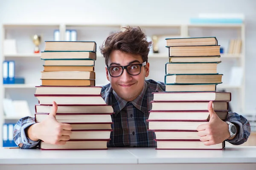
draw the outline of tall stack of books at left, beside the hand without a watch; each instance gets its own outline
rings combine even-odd
[[[41,142],[42,150],[107,149],[112,131],[113,108],[101,97],[102,87],[95,86],[95,42],[47,41],[42,85],[36,87],[35,121],[42,122],[58,105],[56,119],[72,127],[64,145]]]

